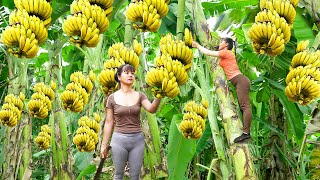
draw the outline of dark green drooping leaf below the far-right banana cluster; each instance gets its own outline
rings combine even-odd
[[[292,128],[292,133],[296,136],[296,140],[301,141],[305,130],[302,113],[297,105],[288,100],[283,91],[273,89],[272,92],[280,99],[281,104],[285,108],[288,123]]]

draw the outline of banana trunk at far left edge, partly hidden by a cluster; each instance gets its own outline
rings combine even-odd
[[[13,65],[14,64],[14,65]],[[9,78],[8,93],[19,95],[25,93],[28,86],[27,59],[17,59],[8,56]],[[14,77],[15,76],[15,77]],[[4,164],[2,165],[1,179],[30,179],[31,163],[31,125],[32,121],[26,112],[21,114],[21,119],[15,127],[6,128],[4,139]]]

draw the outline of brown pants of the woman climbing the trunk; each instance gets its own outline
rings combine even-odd
[[[243,131],[249,134],[252,119],[249,96],[250,80],[246,76],[239,74],[233,77],[230,81],[237,91],[238,102],[243,116]]]

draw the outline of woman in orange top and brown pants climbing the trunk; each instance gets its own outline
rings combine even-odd
[[[219,65],[223,68],[228,80],[236,88],[244,124],[242,135],[234,139],[234,142],[238,143],[250,138],[252,112],[249,97],[250,80],[239,70],[236,57],[231,51],[233,45],[234,42],[231,38],[223,38],[219,45],[219,51],[211,51],[195,41],[192,42],[192,47],[198,48],[203,54],[220,58]]]

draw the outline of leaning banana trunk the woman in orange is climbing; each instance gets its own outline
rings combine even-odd
[[[193,16],[195,32],[199,40],[205,45],[209,45],[212,39],[199,0],[194,1]],[[207,65],[211,69],[213,82],[216,87],[218,105],[223,118],[224,131],[230,145],[230,156],[233,160],[236,179],[258,179],[248,145],[233,143],[235,137],[241,134],[242,123],[238,115],[234,97],[230,88],[228,88],[224,72],[217,65],[215,58],[208,57]]]

